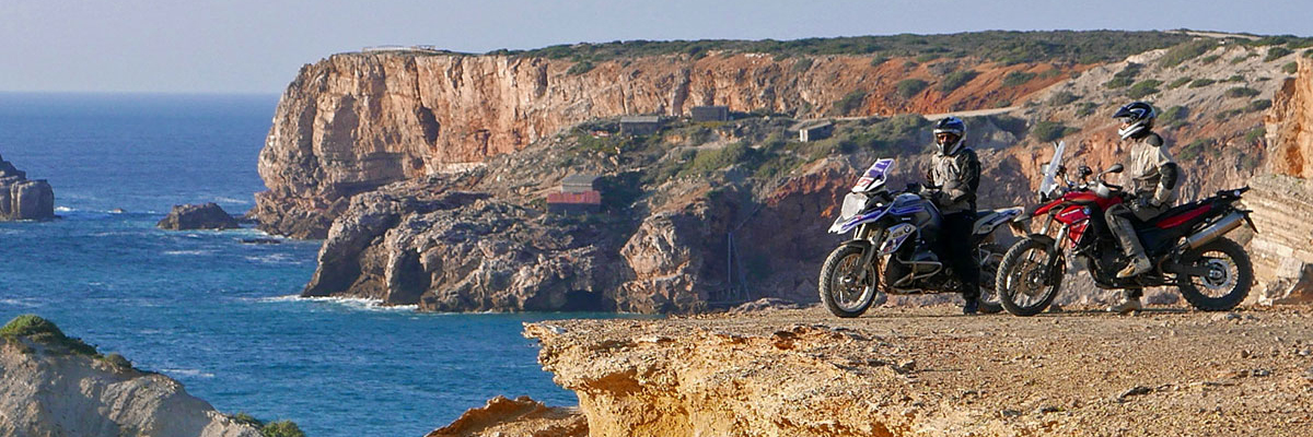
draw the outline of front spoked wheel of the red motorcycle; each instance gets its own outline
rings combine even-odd
[[[1003,255],[994,290],[1007,312],[1032,316],[1048,308],[1058,295],[1066,262],[1057,259],[1052,272],[1045,272],[1048,249],[1043,241],[1024,239]]]

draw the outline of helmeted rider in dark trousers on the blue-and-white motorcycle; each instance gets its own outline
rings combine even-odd
[[[930,193],[931,201],[944,215],[935,253],[957,273],[962,282],[962,314],[976,314],[979,310],[979,265],[970,244],[955,244],[972,240],[972,226],[976,223],[976,189],[981,182],[981,161],[976,151],[966,147],[966,125],[957,117],[948,117],[935,123],[935,150],[931,155],[931,168],[927,173],[930,185],[937,190]]]

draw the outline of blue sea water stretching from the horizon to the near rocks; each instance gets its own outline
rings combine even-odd
[[[578,403],[540,369],[521,323],[607,315],[298,299],[319,241],[155,228],[175,203],[253,205],[276,104],[0,93],[0,156],[49,180],[63,217],[0,223],[0,319],[38,314],[219,411],[293,420],[310,436],[423,436],[495,395]]]

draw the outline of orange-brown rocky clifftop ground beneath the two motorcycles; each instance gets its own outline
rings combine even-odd
[[[595,437],[1306,436],[1310,322],[1308,307],[881,307],[549,322],[525,335]],[[532,428],[519,416],[478,429]]]

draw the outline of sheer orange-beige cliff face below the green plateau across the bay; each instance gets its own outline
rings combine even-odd
[[[852,115],[989,108],[1057,80],[999,88],[1018,64],[982,72],[952,93],[927,88],[905,98],[894,84],[940,73],[867,56],[776,60],[765,54],[688,59],[668,55],[599,63],[498,55],[343,54],[306,66],[288,87],[260,154],[268,192],[256,197],[261,228],[324,238],[345,198],[421,175],[521,150],[578,122],[622,114],[688,114],[696,105],[733,110],[835,114],[861,92]],[[956,68],[973,67],[969,60]],[[1060,67],[1058,71],[1071,67]],[[993,84],[993,85],[990,85]],[[844,114],[839,114],[844,115]]]

